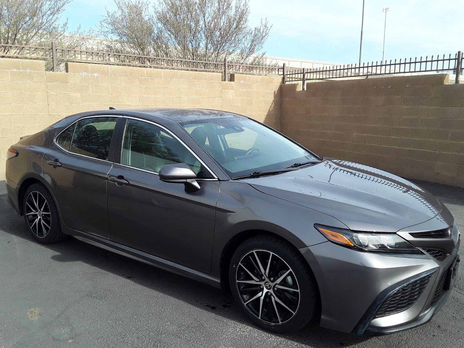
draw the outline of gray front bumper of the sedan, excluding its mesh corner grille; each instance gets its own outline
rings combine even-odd
[[[429,322],[451,292],[440,286],[458,253],[458,235],[455,238],[454,250],[441,261],[427,254],[356,251],[331,242],[300,249],[319,285],[321,326],[354,335],[387,335]],[[424,277],[428,282],[409,308],[376,317],[395,290]]]

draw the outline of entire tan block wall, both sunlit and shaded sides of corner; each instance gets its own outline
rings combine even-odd
[[[0,58],[0,180],[6,149],[73,113],[130,107],[237,112],[317,154],[464,187],[464,85],[448,75],[281,85],[280,77]]]

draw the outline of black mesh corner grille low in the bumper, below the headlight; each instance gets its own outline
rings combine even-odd
[[[384,300],[375,316],[389,316],[400,313],[411,307],[419,296],[422,295],[431,277],[432,274],[429,274],[428,276],[414,280],[413,282],[403,285],[400,289],[395,290]]]

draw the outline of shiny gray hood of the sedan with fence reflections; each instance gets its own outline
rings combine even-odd
[[[412,182],[334,159],[244,181],[263,193],[329,214],[355,231],[396,232],[430,220],[442,209],[431,193]]]

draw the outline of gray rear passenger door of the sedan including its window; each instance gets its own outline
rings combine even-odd
[[[77,120],[58,135],[42,162],[64,225],[102,238],[110,238],[106,181],[119,119],[123,121],[118,116]]]

